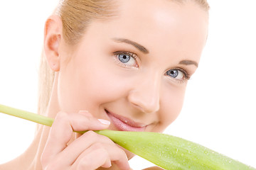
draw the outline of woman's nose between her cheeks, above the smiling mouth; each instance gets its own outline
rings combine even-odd
[[[129,91],[128,100],[144,113],[159,111],[161,79],[156,73],[139,79]]]

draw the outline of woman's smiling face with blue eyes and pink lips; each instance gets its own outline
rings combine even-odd
[[[206,42],[206,11],[188,1],[119,1],[74,50],[60,44],[58,105],[110,120],[111,130],[162,132],[181,111]]]

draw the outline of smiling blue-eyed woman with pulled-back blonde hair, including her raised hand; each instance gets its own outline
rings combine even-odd
[[[1,168],[129,169],[134,154],[73,130],[163,132],[207,32],[206,1],[60,1],[46,21],[38,110],[55,122]]]

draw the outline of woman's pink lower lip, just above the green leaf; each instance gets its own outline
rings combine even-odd
[[[133,127],[130,125],[127,125],[122,120],[119,120],[118,118],[114,117],[110,113],[107,113],[107,115],[110,117],[110,120],[114,124],[114,126],[121,131],[132,131],[132,132],[144,132],[146,126],[144,127]]]

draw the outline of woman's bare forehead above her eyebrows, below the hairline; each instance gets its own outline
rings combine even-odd
[[[193,1],[117,1],[117,15],[102,25],[110,38],[127,38],[172,55],[197,57],[206,42],[208,13]],[[175,54],[174,54],[175,53]]]

